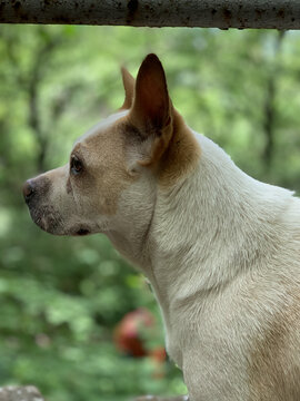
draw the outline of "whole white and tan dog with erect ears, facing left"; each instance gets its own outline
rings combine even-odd
[[[124,102],[29,179],[32,219],[106,234],[151,283],[190,401],[300,400],[300,200],[194,133],[148,55]]]

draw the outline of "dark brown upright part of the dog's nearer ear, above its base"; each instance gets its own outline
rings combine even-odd
[[[146,135],[147,131],[160,135],[171,123],[166,76],[156,55],[148,55],[139,69],[130,119]]]

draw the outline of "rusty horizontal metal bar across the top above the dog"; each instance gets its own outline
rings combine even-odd
[[[300,29],[299,0],[0,0],[0,22]]]

